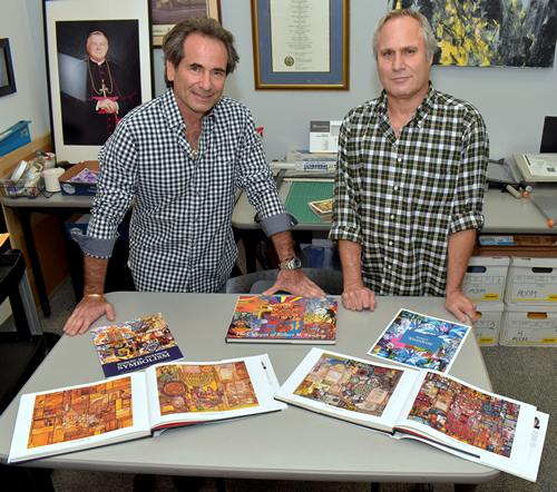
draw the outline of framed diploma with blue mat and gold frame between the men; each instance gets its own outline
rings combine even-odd
[[[350,0],[251,0],[256,90],[349,90]]]

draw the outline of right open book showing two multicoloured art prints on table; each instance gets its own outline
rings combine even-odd
[[[437,371],[313,347],[275,397],[536,481],[548,415]],[[535,429],[537,424],[538,429]],[[536,445],[531,447],[532,435]]]

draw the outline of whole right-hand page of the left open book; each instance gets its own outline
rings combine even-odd
[[[152,429],[235,419],[284,409],[273,398],[268,357],[179,362],[148,367]],[[270,380],[273,384],[270,384]]]

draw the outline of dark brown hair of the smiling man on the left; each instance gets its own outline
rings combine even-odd
[[[206,38],[216,39],[221,41],[226,47],[226,52],[228,53],[228,60],[226,62],[226,75],[232,73],[236,63],[240,61],[236,48],[234,48],[234,36],[229,31],[223,28],[219,22],[215,19],[208,17],[196,17],[192,19],[185,19],[178,22],[173,30],[170,30],[163,40],[163,52],[164,52],[164,63],[165,63],[165,82],[166,87],[173,87],[174,82],[168,80],[166,76],[166,62],[170,61],[174,68],[177,69],[179,62],[184,58],[184,41],[189,35],[198,32]]]

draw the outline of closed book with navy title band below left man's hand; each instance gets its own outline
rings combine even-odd
[[[107,377],[183,356],[160,313],[91,328],[91,335]]]

